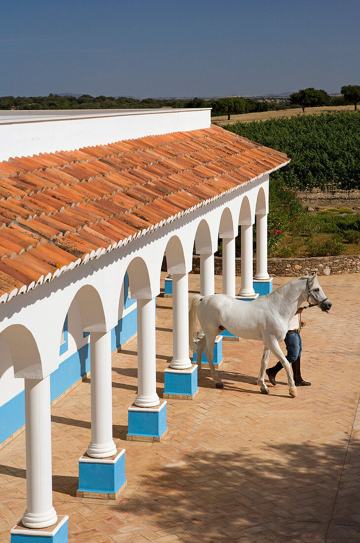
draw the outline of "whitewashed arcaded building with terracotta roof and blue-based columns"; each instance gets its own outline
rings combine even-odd
[[[161,439],[167,403],[156,394],[155,306],[163,256],[174,312],[165,397],[192,395],[194,244],[201,294],[212,294],[222,238],[223,292],[235,296],[241,225],[239,297],[270,292],[269,174],[289,160],[211,125],[210,109],[180,109],[1,112],[0,161],[0,443],[26,422],[27,453],[27,509],[11,541],[59,543],[67,517],[52,504],[50,402],[91,369],[79,493],[116,496],[125,476],[124,450],[112,439],[111,352],[137,333],[128,433]]]

